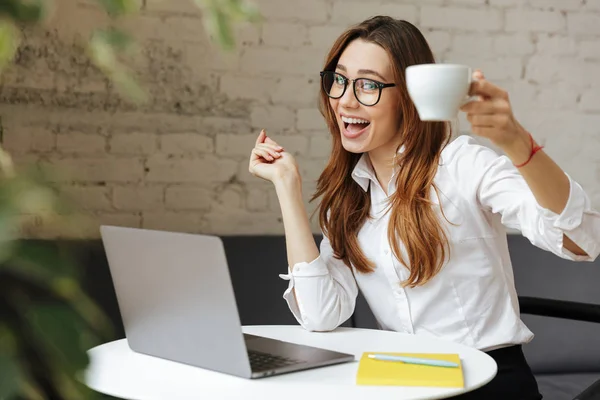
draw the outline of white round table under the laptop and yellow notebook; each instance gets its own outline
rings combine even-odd
[[[92,389],[125,399],[440,399],[477,389],[496,375],[486,353],[460,344],[397,332],[338,328],[309,332],[300,326],[244,326],[245,333],[354,354],[345,364],[260,379],[244,379],[134,353],[126,339],[89,350],[85,382]],[[458,353],[465,387],[357,386],[358,360],[365,351]]]

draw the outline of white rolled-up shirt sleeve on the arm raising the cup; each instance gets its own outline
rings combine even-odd
[[[518,229],[530,242],[562,258],[593,261],[600,253],[600,214],[592,209],[582,187],[569,179],[569,198],[560,214],[541,207],[527,182],[505,156],[479,146],[472,166],[481,171],[477,196],[481,205],[501,214],[502,223]],[[473,170],[472,170],[473,171]],[[563,247],[564,235],[587,255],[578,256]]]

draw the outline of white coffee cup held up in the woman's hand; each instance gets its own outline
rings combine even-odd
[[[406,68],[406,87],[422,121],[453,121],[469,100],[471,68],[418,64]]]

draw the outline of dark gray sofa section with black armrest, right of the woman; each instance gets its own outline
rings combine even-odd
[[[563,260],[522,236],[509,246],[522,319],[536,335],[524,352],[544,398],[573,399],[593,385],[578,398],[600,399],[600,259]]]

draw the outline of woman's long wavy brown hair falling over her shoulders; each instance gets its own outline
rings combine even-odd
[[[448,253],[448,239],[430,200],[440,153],[450,137],[444,122],[423,122],[406,89],[404,70],[413,64],[434,63],[435,59],[421,32],[412,24],[391,17],[370,18],[344,32],[334,43],[325,70],[335,70],[350,42],[362,39],[381,46],[392,60],[394,82],[399,93],[398,118],[404,151],[396,157],[399,167],[396,192],[390,199],[388,240],[394,255],[410,270],[405,286],[423,285],[442,268]],[[393,89],[391,89],[393,90]],[[369,217],[370,195],[352,178],[361,157],[342,147],[341,134],[329,98],[321,87],[320,110],[333,138],[329,162],[317,182],[312,200],[323,196],[319,223],[337,258],[362,273],[372,272],[373,263],[358,244],[358,231]],[[404,244],[408,260],[402,255]]]

